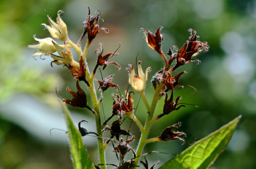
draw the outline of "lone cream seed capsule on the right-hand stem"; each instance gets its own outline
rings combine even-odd
[[[136,92],[141,94],[141,92],[144,92],[147,82],[147,72],[151,70],[150,67],[146,69],[145,74],[143,73],[143,70],[141,68],[141,61],[138,62],[138,75],[135,74],[134,68],[131,65],[132,70],[129,69],[129,83],[134,88]]]

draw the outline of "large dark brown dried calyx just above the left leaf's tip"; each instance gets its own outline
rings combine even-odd
[[[96,114],[96,112],[87,105],[86,94],[79,86],[79,81],[76,81],[76,88],[77,88],[77,92],[73,92],[70,90],[70,88],[67,87],[67,91],[70,92],[70,94],[73,96],[73,99],[68,99],[68,100],[62,99],[62,101],[75,108],[87,108],[90,111],[92,111],[94,114]]]

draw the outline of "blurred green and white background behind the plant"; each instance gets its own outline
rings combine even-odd
[[[68,147],[67,135],[58,130],[66,130],[62,110],[55,95],[55,87],[64,98],[71,98],[66,87],[76,91],[75,79],[67,68],[50,66],[50,57],[45,60],[32,58],[34,50],[27,45],[36,45],[37,38],[46,38],[50,34],[41,23],[49,25],[46,12],[55,20],[57,11],[68,26],[68,35],[77,42],[83,33],[83,21],[88,15],[99,10],[102,12],[100,27],[109,28],[110,33],[97,35],[89,48],[88,64],[92,71],[96,64],[94,54],[99,43],[103,43],[105,52],[114,52],[120,44],[119,55],[109,61],[116,61],[122,66],[118,71],[115,65],[109,65],[102,72],[103,77],[115,74],[113,83],[121,88],[128,83],[128,64],[136,65],[136,55],[142,61],[142,68],[151,66],[146,97],[151,102],[154,89],[151,77],[163,68],[163,61],[157,52],[151,50],[145,42],[140,28],[155,32],[163,26],[162,42],[164,53],[177,45],[179,48],[188,40],[188,29],[197,31],[200,40],[207,41],[210,50],[196,59],[201,65],[189,63],[179,68],[174,74],[186,70],[180,78],[182,84],[197,88],[197,94],[189,87],[177,88],[175,97],[182,96],[180,103],[195,104],[173,112],[153,124],[149,137],[159,136],[167,126],[181,122],[178,131],[186,133],[186,139],[192,143],[195,138],[202,139],[242,114],[241,122],[228,144],[211,168],[256,168],[256,1],[253,0],[172,0],[172,1],[19,1],[2,0],[0,2],[0,168],[73,168]],[[57,41],[59,42],[59,41]],[[59,42],[60,43],[60,42]],[[83,43],[85,45],[85,41]],[[73,53],[76,60],[78,56]],[[101,75],[96,75],[101,79]],[[98,82],[95,83],[98,87]],[[81,85],[89,94],[84,84]],[[105,92],[103,106],[106,118],[111,114],[111,93]],[[170,94],[169,94],[170,96]],[[139,96],[133,96],[137,106]],[[89,102],[90,99],[88,98]],[[159,101],[157,113],[162,111],[163,99]],[[89,103],[91,106],[92,104]],[[96,131],[91,112],[74,109],[69,106],[75,123],[83,124],[89,131]],[[145,105],[138,104],[136,116],[142,123],[146,118]],[[103,114],[102,114],[102,121]],[[128,130],[130,121],[125,120],[123,129]],[[111,125],[111,122],[109,123]],[[125,126],[126,125],[126,126]],[[136,148],[140,131],[133,124],[131,133],[136,136],[130,145]],[[105,134],[105,137],[109,137]],[[98,162],[96,138],[83,138],[94,164]],[[188,148],[180,141],[151,143],[145,146],[144,153],[152,150],[179,154]],[[107,148],[107,163],[117,164],[112,146]],[[130,155],[130,156],[129,156]],[[128,153],[127,159],[132,157]],[[158,159],[161,163],[173,155],[149,154],[147,160],[153,164]],[[114,168],[109,166],[108,168]]]

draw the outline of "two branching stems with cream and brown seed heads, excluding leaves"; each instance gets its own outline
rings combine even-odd
[[[154,122],[158,121],[163,116],[170,114],[174,110],[179,110],[181,107],[185,107],[185,105],[178,106],[181,96],[178,96],[175,99],[175,97],[173,96],[173,90],[175,90],[176,87],[185,86],[179,83],[179,78],[181,77],[181,75],[185,74],[186,72],[178,73],[175,76],[172,75],[172,72],[177,70],[177,68],[179,68],[180,66],[183,66],[193,61],[197,61],[198,63],[200,63],[201,61],[197,59],[192,59],[192,57],[198,55],[202,51],[209,50],[209,46],[207,45],[206,42],[199,41],[197,32],[193,29],[189,29],[189,32],[190,32],[189,40],[185,42],[184,46],[180,50],[177,46],[173,46],[172,48],[170,48],[169,51],[167,52],[169,59],[167,59],[166,55],[164,55],[164,52],[162,51],[163,35],[160,34],[160,30],[162,29],[162,26],[160,26],[157,29],[155,34],[151,34],[148,30],[141,28],[145,34],[147,45],[149,45],[149,47],[151,47],[154,51],[157,51],[160,57],[162,57],[164,61],[164,68],[159,70],[157,73],[155,73],[155,75],[151,79],[151,82],[155,90],[153,100],[151,101],[151,104],[149,104],[149,101],[145,96],[145,87],[148,79],[148,72],[151,71],[151,68],[148,67],[145,70],[145,72],[143,72],[141,68],[141,61],[138,61],[138,67],[136,72],[134,70],[134,66],[129,64],[130,68],[127,68],[129,70],[128,71],[129,84],[132,86],[133,90],[136,91],[138,94],[137,95],[134,94],[133,91],[125,91],[124,96],[121,95],[120,92],[119,94],[112,94],[112,98],[114,100],[113,105],[111,105],[112,113],[110,113],[109,118],[107,118],[107,120],[102,123],[102,118],[101,118],[102,114],[99,111],[99,106],[102,103],[103,93],[109,87],[115,87],[116,90],[119,91],[119,86],[111,82],[112,78],[114,77],[114,74],[109,75],[109,77],[106,77],[105,79],[103,79],[103,81],[99,81],[98,79],[94,78],[94,75],[97,73],[97,70],[100,66],[103,66],[103,70],[104,70],[109,64],[114,64],[120,69],[119,64],[115,63],[114,61],[111,61],[111,62],[107,61],[111,59],[112,56],[118,55],[118,54],[115,51],[114,53],[103,55],[103,45],[101,44],[101,48],[96,49],[96,54],[98,55],[97,63],[95,65],[93,72],[90,73],[88,68],[88,63],[86,62],[86,57],[89,57],[89,56],[86,56],[88,48],[92,43],[93,39],[101,30],[104,30],[106,33],[109,32],[107,28],[99,28],[98,20],[99,20],[99,17],[101,16],[101,12],[98,11],[98,14],[97,15],[95,14],[95,16],[93,16],[93,15],[90,15],[90,9],[89,9],[88,17],[83,23],[84,32],[76,44],[73,43],[68,38],[67,26],[63,22],[63,20],[60,18],[61,12],[62,11],[58,11],[58,17],[57,17],[56,23],[53,20],[51,20],[51,18],[47,15],[50,26],[46,24],[42,24],[42,25],[44,25],[45,28],[49,30],[51,37],[59,39],[60,41],[63,41],[63,45],[58,45],[57,42],[55,42],[52,38],[38,39],[34,35],[34,39],[38,41],[39,44],[29,45],[28,47],[34,48],[37,50],[37,52],[33,55],[33,57],[37,55],[39,55],[40,57],[42,55],[51,56],[53,58],[51,65],[54,63],[57,65],[66,66],[68,69],[70,69],[70,72],[73,75],[73,78],[77,80],[76,81],[77,92],[73,92],[69,88],[67,88],[68,92],[70,92],[70,94],[73,96],[73,99],[62,99],[62,101],[64,103],[70,104],[73,107],[86,108],[86,109],[89,109],[91,112],[93,112],[96,119],[96,126],[97,126],[97,133],[94,133],[94,134],[98,136],[98,151],[99,151],[101,168],[106,168],[105,149],[106,149],[106,146],[109,145],[110,140],[112,140],[114,137],[116,137],[116,140],[118,141],[120,140],[120,143],[113,150],[115,153],[120,153],[121,162],[119,166],[117,166],[118,168],[124,168],[123,166],[127,165],[128,161],[124,161],[124,157],[125,157],[125,154],[130,151],[133,152],[134,158],[132,160],[129,160],[129,165],[131,165],[129,168],[136,167],[139,161],[139,158],[137,157],[141,155],[142,149],[147,143],[151,143],[154,141],[171,141],[171,140],[180,140],[180,141],[183,141],[183,143],[185,143],[185,140],[182,137],[180,137],[181,135],[186,136],[184,132],[172,131],[174,128],[180,127],[181,123],[173,124],[172,126],[167,127],[162,132],[162,134],[159,134],[160,135],[159,137],[147,139],[147,135],[149,134],[150,126]],[[84,50],[82,50],[81,42],[85,37],[87,39],[87,43]],[[73,57],[72,57],[73,54],[70,50],[70,47],[75,48],[75,50],[77,51],[77,55],[80,56],[79,62],[73,60]],[[174,52],[174,50],[176,50],[177,52]],[[54,52],[58,52],[58,55],[54,54]],[[176,64],[172,64],[173,61],[175,60],[176,60]],[[171,65],[174,65],[174,66],[171,67]],[[94,80],[98,81],[99,83],[98,90],[99,89],[102,90],[101,98],[99,99],[97,98],[97,95],[96,95],[96,87],[94,86]],[[89,89],[88,93],[92,96],[93,106],[89,106],[87,103],[86,94],[79,85],[81,81],[85,82],[85,84]],[[167,92],[171,92],[171,97],[169,99],[168,99]],[[133,106],[133,99],[132,99],[132,97],[134,96],[141,97],[141,99],[143,100],[146,106],[144,113],[147,115],[147,119],[144,126],[141,124],[140,121],[138,121],[138,119],[134,115],[134,106]],[[165,96],[165,100],[164,100],[162,113],[154,117],[155,107],[158,103],[158,100],[163,96]],[[131,136],[129,131],[121,129],[123,115],[126,115],[132,121],[134,121],[141,130],[141,137],[136,150],[134,150],[129,146],[129,142],[131,142],[134,139],[134,136],[132,136],[132,138],[128,140],[124,140],[123,138],[119,139],[120,135]],[[112,123],[111,127],[107,126],[107,122],[109,122],[110,119],[112,118],[116,118],[116,121]],[[80,123],[79,123],[79,127],[80,127]],[[79,130],[80,129],[81,128],[79,128]],[[102,132],[106,130],[111,131],[111,138],[110,140],[107,140],[105,143],[103,143]],[[85,132],[86,134],[88,133],[86,130]],[[141,163],[146,168],[148,168],[147,161],[146,163],[145,162],[141,162]],[[155,164],[158,164],[158,163],[155,163]],[[154,166],[152,166],[151,168],[153,167]],[[96,168],[99,168],[99,167],[96,167]]]

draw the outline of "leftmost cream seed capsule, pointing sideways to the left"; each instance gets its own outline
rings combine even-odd
[[[49,53],[54,53],[56,52],[56,48],[54,47],[52,38],[45,38],[45,39],[38,39],[36,38],[36,35],[33,35],[33,38],[39,42],[38,45],[28,45],[29,48],[34,48],[36,50],[40,50],[43,53],[49,52]]]

